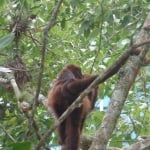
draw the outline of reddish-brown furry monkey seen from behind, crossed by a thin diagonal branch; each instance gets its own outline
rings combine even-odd
[[[54,87],[48,93],[48,106],[60,117],[73,101],[96,78],[94,75],[82,75],[76,65],[68,65],[61,72]],[[98,88],[94,88],[83,98],[83,105],[76,108],[58,127],[62,150],[77,150],[84,120],[94,107]]]

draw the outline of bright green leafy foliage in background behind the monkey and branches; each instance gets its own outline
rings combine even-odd
[[[32,89],[37,86],[43,28],[55,4],[56,1],[50,0],[1,0],[0,65],[6,66],[13,56],[20,55],[32,74],[32,82],[27,85]],[[84,72],[103,72],[129,46],[149,9],[146,0],[64,0],[56,25],[49,34],[41,93],[47,94],[56,74],[68,63],[80,65]],[[16,21],[20,25],[17,28],[14,26]],[[11,33],[13,30],[19,35],[17,39]],[[136,140],[138,135],[150,134],[149,76],[149,68],[144,68],[130,91],[110,145],[121,147]],[[116,78],[100,86],[99,98],[111,97]],[[35,117],[42,134],[53,124],[42,106],[37,109]],[[85,132],[91,133],[91,127],[95,132],[102,117],[103,113],[99,111],[92,113],[87,119]],[[32,128],[27,136],[28,121],[18,109],[14,93],[1,85],[0,118],[2,147],[17,150],[26,145],[30,149],[28,141],[31,140],[32,147],[37,144]],[[56,144],[56,138],[54,133],[48,139],[49,143]],[[20,141],[25,142],[18,143]],[[12,142],[14,144],[10,144]]]

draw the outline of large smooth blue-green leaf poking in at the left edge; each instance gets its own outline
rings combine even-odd
[[[14,40],[14,38],[15,38],[14,33],[10,33],[10,34],[0,38],[0,49],[5,48],[6,46],[8,46]]]

